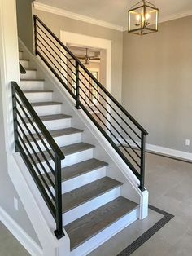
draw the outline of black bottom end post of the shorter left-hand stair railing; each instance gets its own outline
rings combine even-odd
[[[62,184],[61,184],[61,160],[55,153],[55,201],[56,201],[56,230],[55,236],[60,239],[63,233],[63,212],[62,212]]]

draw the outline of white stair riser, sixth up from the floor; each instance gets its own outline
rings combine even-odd
[[[71,127],[71,118],[68,119],[59,119],[59,120],[53,120],[53,121],[44,121],[44,125],[46,126],[47,130],[59,130],[64,128]],[[35,124],[34,124],[35,125]],[[22,126],[24,129],[24,132],[26,135],[28,135],[28,130],[25,128],[25,126]],[[37,128],[37,126],[35,126]],[[34,134],[36,131],[33,129],[33,126],[28,123],[28,129]],[[37,128],[37,131],[39,129]]]

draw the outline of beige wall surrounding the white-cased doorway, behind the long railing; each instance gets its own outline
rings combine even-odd
[[[111,93],[121,100],[123,33],[98,25],[72,20],[60,15],[34,10],[34,13],[59,37],[59,31],[81,33],[111,40]]]

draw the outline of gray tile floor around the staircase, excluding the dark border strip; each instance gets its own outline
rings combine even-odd
[[[150,204],[174,214],[175,218],[132,255],[192,255],[192,164],[147,153],[146,188],[150,192]],[[148,218],[125,228],[89,256],[116,256],[160,218],[161,214],[150,210]],[[0,256],[28,255],[0,224]]]

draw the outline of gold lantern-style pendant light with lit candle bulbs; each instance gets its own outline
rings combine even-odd
[[[158,32],[159,9],[146,0],[131,7],[129,13],[129,33],[145,35]]]

